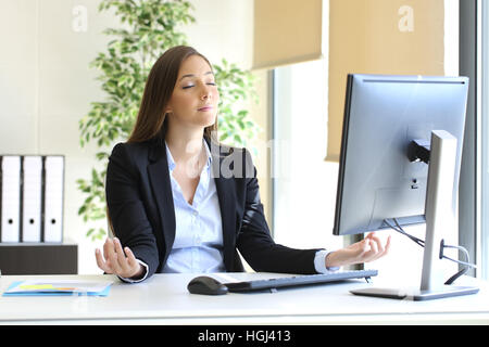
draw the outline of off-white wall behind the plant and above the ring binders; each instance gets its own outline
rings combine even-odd
[[[99,2],[0,1],[0,155],[65,155],[64,239],[79,244],[79,273],[100,272],[93,250],[101,242],[85,236],[89,226],[77,215],[84,195],[76,180],[88,178],[97,164],[97,147],[79,146],[78,121],[90,102],[104,98],[88,65],[110,40],[101,31],[118,24],[98,12]],[[189,43],[211,62],[226,57],[249,68],[253,1],[191,2],[197,23],[185,28]]]

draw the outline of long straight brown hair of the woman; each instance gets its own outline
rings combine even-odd
[[[164,111],[175,88],[180,65],[190,55],[201,56],[212,69],[209,60],[191,47],[176,46],[164,52],[148,75],[136,125],[127,142],[143,142],[165,136]],[[210,139],[215,139],[216,134],[217,120],[204,129],[204,136]]]

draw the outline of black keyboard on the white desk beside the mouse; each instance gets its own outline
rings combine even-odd
[[[377,270],[349,270],[337,271],[324,274],[301,274],[294,277],[284,277],[267,280],[252,280],[242,282],[223,283],[229,292],[251,292],[276,290],[279,287],[289,287],[297,285],[312,285],[328,282],[338,282],[350,279],[365,279],[368,281],[372,277],[377,275]]]

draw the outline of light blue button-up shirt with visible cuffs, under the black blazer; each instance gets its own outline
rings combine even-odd
[[[208,143],[203,140],[208,160],[200,174],[199,184],[192,204],[189,204],[173,177],[175,160],[166,145],[166,157],[175,206],[175,241],[163,268],[163,272],[225,272],[223,256],[223,224],[215,181],[211,177],[212,156]],[[335,271],[326,268],[328,250],[318,250],[314,258],[315,270],[319,273]],[[142,279],[123,279],[127,282],[141,282],[148,274],[148,265]]]

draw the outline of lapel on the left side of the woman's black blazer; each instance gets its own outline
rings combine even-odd
[[[172,183],[170,181],[166,150],[161,143],[154,144],[149,151],[148,176],[158,209],[165,241],[165,259],[168,257],[175,241],[175,206],[173,204]],[[163,261],[163,262],[164,262]]]

